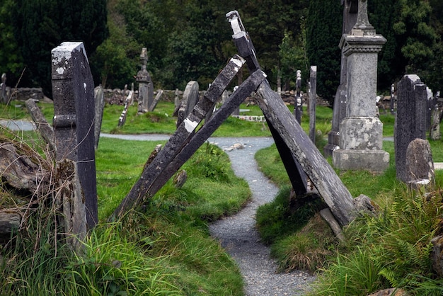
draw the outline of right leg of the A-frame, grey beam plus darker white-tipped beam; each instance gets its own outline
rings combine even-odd
[[[238,53],[246,59],[250,72],[260,70],[252,40],[243,27],[238,12],[226,13],[226,18],[231,23],[234,32],[232,38]],[[284,105],[282,98],[278,93],[272,91],[267,81],[260,84],[257,93],[259,95],[258,105],[270,126],[289,178],[291,175],[297,174],[294,172],[297,171],[297,164],[299,164],[328,204],[338,222],[341,225],[348,224],[356,215],[356,208],[349,190],[304,130],[301,129],[297,120]],[[300,178],[300,174],[293,177]]]

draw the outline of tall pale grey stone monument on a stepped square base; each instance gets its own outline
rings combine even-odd
[[[359,0],[357,21],[340,40],[347,57],[347,106],[339,127],[340,149],[333,151],[339,169],[381,172],[389,166],[389,153],[382,149],[383,124],[376,117],[377,54],[385,42],[369,23],[367,0]]]

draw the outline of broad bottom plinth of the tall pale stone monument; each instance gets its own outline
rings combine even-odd
[[[389,153],[384,150],[337,149],[333,152],[333,164],[338,169],[381,173],[389,167]]]

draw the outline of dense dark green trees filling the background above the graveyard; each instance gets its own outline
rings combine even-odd
[[[229,2],[229,3],[228,3]],[[259,0],[0,0],[0,72],[8,84],[40,85],[50,93],[50,50],[83,40],[96,84],[134,81],[142,47],[156,88],[205,89],[236,48],[225,14],[238,10],[272,85],[294,89],[295,72],[318,66],[318,93],[332,98],[340,81],[340,1]],[[105,7],[107,5],[107,7]],[[379,55],[379,89],[406,72],[438,90],[443,82],[443,4],[439,0],[371,0],[369,21],[388,42]],[[106,21],[106,17],[108,18]],[[109,35],[108,35],[109,32]],[[13,34],[15,33],[15,35]],[[243,76],[246,76],[245,73]],[[239,81],[244,77],[239,77]]]

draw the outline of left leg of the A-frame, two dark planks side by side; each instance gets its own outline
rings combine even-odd
[[[127,210],[141,204],[146,198],[153,196],[173,173],[187,161],[197,149],[205,143],[219,125],[231,115],[240,103],[257,89],[257,86],[265,79],[263,72],[251,75],[237,91],[230,97],[230,101],[224,104],[224,108],[210,118],[198,132],[196,127],[205,118],[205,115],[214,108],[218,98],[222,96],[226,86],[231,83],[237,72],[243,67],[245,60],[238,55],[231,58],[219,76],[209,86],[205,95],[198,101],[188,116],[177,127],[174,135],[166,143],[165,147],[156,152],[154,159],[149,160],[142,172],[139,181],[134,184],[130,193],[122,200],[122,203],[113,212],[109,220],[122,217]]]

